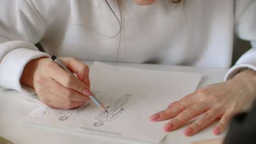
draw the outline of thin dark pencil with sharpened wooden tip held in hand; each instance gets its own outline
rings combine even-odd
[[[57,64],[60,65],[61,68],[63,68],[64,70],[66,70],[69,74],[73,75],[75,78],[77,78],[56,56],[51,56],[51,59],[53,59],[54,62],[56,62]],[[108,113],[106,107],[101,103],[100,100],[98,100],[94,95],[89,95],[89,97],[91,98],[92,101],[94,101],[94,103],[100,107],[101,110],[105,111]]]

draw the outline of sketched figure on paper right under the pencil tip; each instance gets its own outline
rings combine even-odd
[[[110,103],[110,106],[106,107],[106,109],[108,110],[108,113],[105,111],[101,111],[95,117],[95,119],[98,121],[94,123],[94,127],[100,127],[104,124],[104,122],[114,121],[114,119],[118,117],[125,110],[126,108],[125,105],[128,103],[129,98],[131,96],[132,95],[130,94],[124,94],[123,97],[115,101],[113,105]]]

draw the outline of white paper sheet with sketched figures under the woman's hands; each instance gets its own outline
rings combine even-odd
[[[195,90],[201,74],[117,67],[95,62],[91,90],[109,113],[88,101],[74,110],[47,112],[38,107],[22,121],[83,133],[158,143],[166,122],[148,117]],[[47,113],[47,115],[44,115]]]

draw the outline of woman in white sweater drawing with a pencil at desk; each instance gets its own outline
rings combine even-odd
[[[46,105],[73,109],[91,95],[89,68],[78,59],[230,68],[234,34],[252,48],[223,82],[185,95],[149,117],[191,136],[220,119],[218,135],[256,93],[256,1],[3,0],[0,5],[0,87],[37,93]],[[45,52],[34,44],[40,42]],[[244,47],[241,47],[243,49]],[[49,54],[77,74],[75,79]],[[250,69],[248,69],[250,68]]]

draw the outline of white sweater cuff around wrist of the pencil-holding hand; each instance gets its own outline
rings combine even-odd
[[[18,48],[9,51],[0,63],[0,89],[15,89],[16,91],[27,94],[34,94],[35,91],[33,88],[20,84],[20,77],[25,65],[32,59],[39,57],[49,57],[49,55],[27,48]]]

